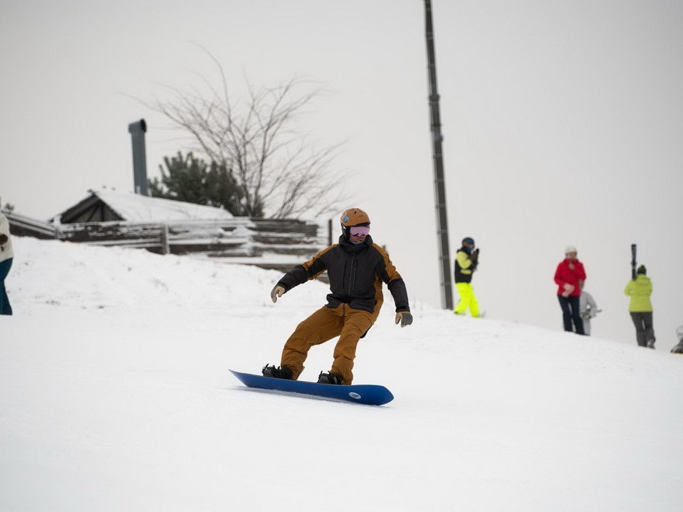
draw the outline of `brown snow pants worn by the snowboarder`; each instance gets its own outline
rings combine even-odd
[[[377,320],[376,314],[352,309],[346,304],[334,309],[323,306],[297,325],[282,350],[280,365],[292,370],[293,378],[297,379],[303,370],[303,362],[306,361],[308,350],[313,345],[320,345],[339,336],[330,372],[341,375],[344,384],[349,385],[353,381],[351,370],[356,345],[360,337],[372,327],[375,320]]]

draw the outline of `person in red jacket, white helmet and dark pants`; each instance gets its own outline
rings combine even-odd
[[[581,288],[583,288],[585,281],[585,269],[583,263],[576,258],[576,254],[574,246],[568,246],[565,249],[566,257],[559,263],[555,271],[555,282],[558,285],[558,300],[562,308],[565,330],[570,333],[575,331],[576,334],[585,334],[579,306]],[[572,321],[574,328],[572,328]]]

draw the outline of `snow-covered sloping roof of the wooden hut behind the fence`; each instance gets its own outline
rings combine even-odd
[[[123,219],[132,222],[181,221],[232,219],[232,214],[222,208],[205,207],[201,204],[147,197],[132,192],[90,190],[103,200]]]

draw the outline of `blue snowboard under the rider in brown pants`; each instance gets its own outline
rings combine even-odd
[[[261,390],[278,390],[302,395],[316,395],[356,404],[384,405],[394,399],[394,395],[384,386],[360,384],[341,386],[333,384],[318,384],[303,380],[273,379],[263,375],[251,375],[230,370],[246,387],[258,387]]]

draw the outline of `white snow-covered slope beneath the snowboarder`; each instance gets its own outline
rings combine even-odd
[[[280,273],[15,238],[0,317],[0,510],[679,511],[683,357],[387,297],[355,383],[258,392],[324,302]],[[410,293],[410,283],[407,283]],[[388,293],[387,293],[388,295]],[[313,348],[302,378],[328,370]]]

